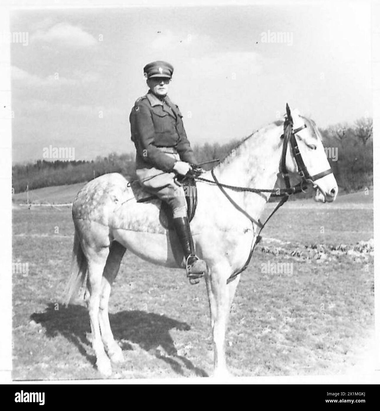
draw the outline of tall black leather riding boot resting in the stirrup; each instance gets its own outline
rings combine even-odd
[[[206,263],[195,256],[188,217],[174,218],[173,222],[183,254],[185,254],[187,276],[190,279],[203,277],[206,271]]]

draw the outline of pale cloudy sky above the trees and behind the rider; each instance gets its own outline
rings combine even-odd
[[[264,42],[268,30],[286,42]],[[132,151],[153,60],[174,65],[169,95],[193,144],[246,136],[286,102],[320,127],[372,115],[370,30],[365,2],[14,11],[11,31],[28,38],[11,44],[13,162],[50,145],[75,159]]]

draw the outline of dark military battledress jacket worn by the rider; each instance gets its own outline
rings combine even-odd
[[[136,147],[136,169],[156,167],[173,171],[176,160],[158,147],[172,147],[182,161],[196,163],[182,117],[178,106],[168,97],[161,101],[149,91],[137,99],[129,116],[131,140]]]

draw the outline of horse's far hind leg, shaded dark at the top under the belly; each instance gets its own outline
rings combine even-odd
[[[112,242],[101,281],[101,296],[99,303],[100,331],[105,350],[113,363],[122,363],[124,361],[124,355],[112,334],[108,315],[108,302],[110,299],[112,282],[119,272],[120,263],[125,251],[126,248],[119,242]]]

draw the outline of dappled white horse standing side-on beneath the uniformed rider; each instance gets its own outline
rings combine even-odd
[[[215,177],[225,185],[251,189],[285,188],[287,176],[283,173],[286,171],[291,185],[305,180],[300,170],[301,158],[309,172],[307,176],[314,175],[314,179],[308,179],[314,185],[314,199],[334,201],[337,182],[315,123],[298,112],[291,115],[288,107],[286,119],[291,122],[289,130],[293,134],[284,133],[284,138],[284,127],[275,123],[258,130],[214,168]],[[294,141],[287,138],[290,135]],[[296,153],[294,144],[299,145],[300,154]],[[212,179],[210,171],[201,177]],[[197,211],[191,222],[196,253],[207,264],[205,281],[213,333],[214,376],[228,375],[224,338],[240,275],[228,284],[227,279],[247,261],[258,234],[259,223],[256,222],[270,197],[270,192],[224,190],[232,201],[217,185],[199,181]],[[160,224],[159,213],[158,199],[137,203],[128,181],[117,173],[88,182],[73,203],[75,237],[67,302],[81,293],[85,297],[96,365],[105,376],[112,373],[111,361],[124,360],[110,328],[108,301],[111,284],[126,249],[161,266],[185,266],[181,247],[173,241],[174,231]]]

